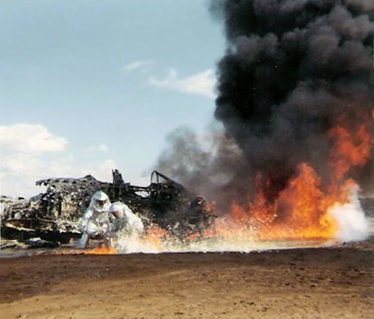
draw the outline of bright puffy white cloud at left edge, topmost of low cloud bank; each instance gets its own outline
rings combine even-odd
[[[0,145],[16,152],[58,152],[66,149],[67,141],[40,124],[15,124],[0,126]]]

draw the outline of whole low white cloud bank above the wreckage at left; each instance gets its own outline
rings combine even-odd
[[[111,181],[111,170],[116,167],[112,159],[78,161],[67,154],[66,139],[54,136],[42,125],[1,126],[0,139],[0,194],[11,197],[30,197],[44,191],[35,182],[50,177],[91,174],[99,180]],[[95,150],[107,151],[108,147],[101,144]]]

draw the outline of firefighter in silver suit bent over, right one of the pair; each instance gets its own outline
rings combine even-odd
[[[144,232],[142,220],[124,203],[115,202],[110,206],[109,220],[112,238],[119,232],[127,236],[141,235]]]

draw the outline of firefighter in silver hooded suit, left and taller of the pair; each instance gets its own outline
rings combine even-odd
[[[110,205],[108,195],[102,191],[96,192],[91,197],[90,205],[84,212],[80,223],[80,231],[82,233],[80,239],[81,248],[86,248],[90,239],[104,240],[105,245],[110,246]]]

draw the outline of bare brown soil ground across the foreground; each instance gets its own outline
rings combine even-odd
[[[374,318],[374,240],[251,254],[0,259],[1,319]]]

